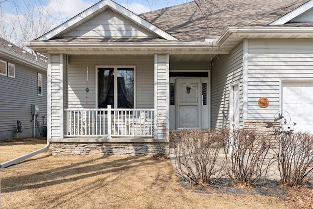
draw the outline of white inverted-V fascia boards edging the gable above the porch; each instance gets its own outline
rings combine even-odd
[[[99,3],[91,6],[89,9],[85,10],[84,12],[76,15],[75,17],[71,18],[67,22],[59,25],[55,29],[47,32],[45,35],[39,37],[36,40],[49,40],[53,37],[56,37],[63,31],[67,30],[68,28],[72,27],[73,25],[77,25],[83,21],[86,20],[90,15],[99,13],[101,11],[104,11],[107,8],[111,8],[114,11],[118,12],[119,14],[131,19],[135,23],[141,25],[142,27],[146,28],[147,30],[150,30],[151,32],[155,33],[156,35],[160,36],[161,38],[164,38],[166,40],[176,40],[177,38],[170,35],[169,33],[165,32],[164,30],[156,27],[154,24],[149,23],[148,21],[144,20],[143,18],[140,18],[138,15],[134,14],[133,12],[129,11],[128,9],[124,8],[123,6],[115,3],[112,0],[103,0]]]

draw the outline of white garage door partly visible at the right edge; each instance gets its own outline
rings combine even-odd
[[[282,97],[282,110],[290,114],[291,123],[297,123],[294,130],[313,133],[313,82],[283,83]]]

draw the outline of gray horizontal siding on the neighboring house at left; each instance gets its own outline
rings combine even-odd
[[[1,58],[1,60],[6,61]],[[38,121],[46,122],[47,115],[47,76],[46,71],[15,64],[15,78],[0,75],[0,139],[12,139],[16,122],[24,126],[19,138],[33,137],[33,119],[31,105],[37,104],[40,116]],[[37,73],[43,74],[43,95],[38,95]],[[40,136],[40,135],[39,135]]]

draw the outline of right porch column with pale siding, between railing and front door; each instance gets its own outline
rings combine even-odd
[[[155,139],[169,138],[169,54],[155,54]]]

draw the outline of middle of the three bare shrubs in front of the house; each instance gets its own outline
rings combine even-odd
[[[253,186],[265,179],[269,166],[274,162],[274,155],[268,155],[271,146],[271,140],[254,129],[232,130],[224,150],[226,174],[233,184]]]

